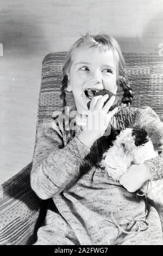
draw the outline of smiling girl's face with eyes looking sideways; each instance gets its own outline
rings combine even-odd
[[[68,75],[67,91],[72,91],[79,114],[86,114],[87,103],[85,96],[87,88],[109,90],[116,94],[116,65],[111,50],[106,52],[98,48],[80,46],[74,53],[73,62]],[[86,111],[86,112],[83,112]]]

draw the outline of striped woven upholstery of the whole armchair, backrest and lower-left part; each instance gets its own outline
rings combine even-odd
[[[66,52],[49,53],[42,62],[42,79],[37,111],[37,127],[52,112],[61,110],[59,98],[61,70]],[[133,106],[151,106],[163,121],[163,57],[154,53],[124,53],[126,72],[134,91]],[[122,91],[118,94],[122,96]],[[74,104],[67,93],[67,105]],[[46,204],[30,188],[29,163],[0,187],[0,245],[28,245],[45,217]]]

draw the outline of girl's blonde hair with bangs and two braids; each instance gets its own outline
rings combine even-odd
[[[67,53],[65,64],[62,67],[62,86],[60,88],[60,98],[62,100],[62,114],[64,114],[65,106],[66,106],[66,92],[68,77],[67,73],[70,71],[71,64],[73,62],[73,55],[80,46],[87,47],[98,47],[101,51],[111,50],[114,55],[114,61],[116,64],[116,75],[117,75],[117,85],[121,86],[124,94],[122,98],[122,102],[131,103],[131,98],[133,97],[133,93],[131,91],[131,87],[128,85],[126,74],[125,74],[125,61],[121,52],[120,45],[117,43],[116,39],[108,34],[97,34],[92,35],[90,32],[87,32],[85,35],[82,34],[80,37],[70,48]],[[71,131],[70,131],[71,132]]]

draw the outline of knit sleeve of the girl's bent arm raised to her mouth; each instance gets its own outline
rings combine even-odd
[[[53,121],[51,117],[45,118],[37,130],[30,175],[31,187],[41,199],[52,198],[64,190],[78,175],[80,162],[90,152],[77,136],[62,147],[62,133]]]

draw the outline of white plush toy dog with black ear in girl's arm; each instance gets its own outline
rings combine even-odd
[[[162,138],[160,133],[157,132],[159,139]],[[152,140],[145,129],[127,128],[117,135],[116,140],[112,142],[112,147],[104,153],[101,164],[105,166],[108,175],[113,180],[118,181],[131,164],[142,164],[157,156],[158,151],[154,149]],[[151,181],[148,188],[148,198],[163,205],[162,179]]]

